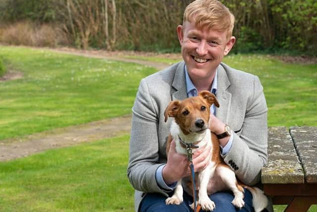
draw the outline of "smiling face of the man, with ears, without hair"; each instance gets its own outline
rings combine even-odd
[[[229,53],[235,37],[227,40],[227,32],[198,28],[186,22],[177,27],[183,60],[192,79],[211,78],[223,57]]]

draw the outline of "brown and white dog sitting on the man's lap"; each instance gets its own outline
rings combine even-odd
[[[209,194],[217,191],[231,190],[234,199],[231,202],[235,207],[244,206],[244,190],[248,189],[253,195],[253,206],[255,212],[261,212],[267,205],[267,198],[264,192],[256,187],[248,187],[238,182],[235,173],[223,161],[220,156],[219,141],[209,130],[210,107],[214,104],[219,107],[216,97],[209,91],[202,91],[196,97],[190,97],[183,101],[171,101],[165,109],[165,122],[168,117],[174,117],[170,127],[170,136],[166,145],[168,155],[170,142],[174,140],[176,152],[187,155],[187,150],[181,144],[180,139],[185,143],[195,143],[199,148],[205,145],[211,146],[211,162],[195,180],[198,191],[198,204],[205,211],[212,211],[215,208]],[[197,149],[193,149],[193,152]],[[182,180],[177,182],[172,197],[165,200],[166,204],[180,204],[183,202]],[[191,206],[193,207],[193,205]]]

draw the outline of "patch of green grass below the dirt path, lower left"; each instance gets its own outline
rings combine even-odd
[[[132,212],[128,136],[0,162],[0,212]]]

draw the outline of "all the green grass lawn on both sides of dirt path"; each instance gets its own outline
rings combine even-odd
[[[0,82],[0,141],[129,114],[140,79],[156,71],[29,48],[0,46],[0,56],[8,70],[24,74]],[[317,65],[259,55],[228,56],[225,63],[259,75],[269,126],[317,126]],[[122,136],[0,162],[0,212],[132,212],[128,140]]]

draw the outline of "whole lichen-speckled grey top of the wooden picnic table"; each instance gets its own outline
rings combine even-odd
[[[263,184],[317,183],[317,127],[268,129]]]

